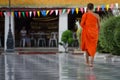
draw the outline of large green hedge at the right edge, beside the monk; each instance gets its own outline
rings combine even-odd
[[[98,52],[120,55],[120,16],[107,16],[101,20]]]

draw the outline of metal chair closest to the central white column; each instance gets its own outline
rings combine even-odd
[[[51,32],[50,39],[49,39],[49,47],[50,46],[53,47],[54,43],[55,43],[55,46],[57,46],[58,44],[57,36],[58,36],[57,32]]]

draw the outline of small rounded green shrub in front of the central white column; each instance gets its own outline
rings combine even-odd
[[[62,45],[67,52],[68,45],[71,45],[74,42],[73,32],[71,30],[66,30],[62,33],[61,41],[59,44]]]

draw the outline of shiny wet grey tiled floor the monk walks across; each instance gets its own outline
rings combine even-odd
[[[4,80],[4,56],[0,57],[0,80]],[[5,58],[8,80],[120,80],[120,62],[102,58],[95,59],[93,68],[84,64],[83,55],[22,54]]]

